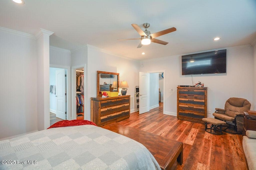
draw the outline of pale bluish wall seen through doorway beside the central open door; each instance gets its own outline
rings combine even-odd
[[[149,107],[153,109],[159,106],[159,73],[149,74]]]

